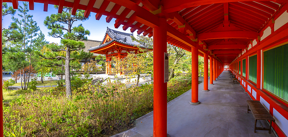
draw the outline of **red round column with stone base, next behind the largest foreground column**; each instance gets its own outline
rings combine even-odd
[[[190,104],[197,105],[200,102],[198,101],[198,48],[191,48],[191,72],[192,72],[192,99]]]

